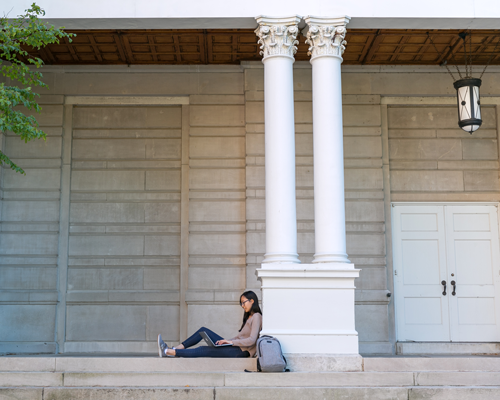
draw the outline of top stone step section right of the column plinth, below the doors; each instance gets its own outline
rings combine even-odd
[[[363,371],[500,371],[500,357],[365,357]]]

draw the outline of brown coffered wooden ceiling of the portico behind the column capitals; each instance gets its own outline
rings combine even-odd
[[[238,64],[261,60],[251,29],[238,30],[80,30],[72,43],[30,50],[46,64]],[[429,35],[436,49],[429,40]],[[459,30],[348,29],[344,64],[463,64]],[[309,60],[304,36],[296,60]],[[474,64],[500,64],[500,30],[472,31]],[[467,48],[467,51],[469,49]],[[454,56],[452,56],[454,55]]]

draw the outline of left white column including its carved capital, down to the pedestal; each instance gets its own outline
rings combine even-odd
[[[264,63],[266,254],[264,263],[299,263],[295,201],[293,63],[300,17],[257,17]]]

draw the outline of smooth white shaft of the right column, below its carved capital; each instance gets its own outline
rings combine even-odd
[[[340,57],[313,66],[314,263],[349,262],[346,252]]]

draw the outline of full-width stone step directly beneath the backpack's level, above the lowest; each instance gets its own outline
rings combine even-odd
[[[2,372],[0,387],[497,386],[500,372]]]

